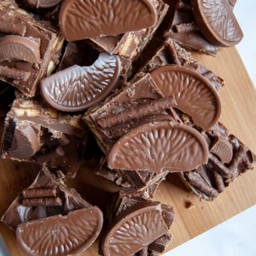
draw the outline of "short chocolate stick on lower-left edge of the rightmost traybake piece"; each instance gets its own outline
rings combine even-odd
[[[187,174],[187,177],[192,186],[197,187],[198,190],[201,190],[204,194],[207,194],[211,198],[217,197],[218,191],[206,183],[199,174],[190,172]]]

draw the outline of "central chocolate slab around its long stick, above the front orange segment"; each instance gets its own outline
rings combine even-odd
[[[96,106],[90,110],[84,119],[96,135],[99,146],[107,153],[118,138],[143,123],[154,121],[178,122],[177,114],[170,108],[159,111],[157,114],[155,112],[149,112],[147,116],[142,114],[139,118],[133,118],[132,120],[128,118],[129,120],[126,120],[126,122],[106,129],[102,128],[98,123],[99,120],[106,117],[109,118],[115,114],[125,114],[127,111],[129,113],[134,107],[146,106],[151,103],[158,105],[158,100],[161,98],[162,94],[150,74],[138,74],[132,81],[127,82],[122,90],[112,95],[101,106]]]

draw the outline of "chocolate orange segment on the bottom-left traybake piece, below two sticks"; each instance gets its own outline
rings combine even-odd
[[[71,211],[67,216],[24,222],[16,230],[18,243],[29,255],[70,255],[86,250],[102,230],[98,207]]]

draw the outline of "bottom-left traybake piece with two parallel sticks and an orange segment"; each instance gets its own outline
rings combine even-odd
[[[16,230],[28,255],[70,255],[86,250],[102,230],[102,211],[91,206],[42,167],[33,184],[22,191],[2,216]]]

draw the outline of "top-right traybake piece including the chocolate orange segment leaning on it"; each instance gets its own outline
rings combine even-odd
[[[174,0],[165,37],[190,50],[215,56],[218,46],[234,46],[242,39],[233,14],[234,4],[226,0]]]

